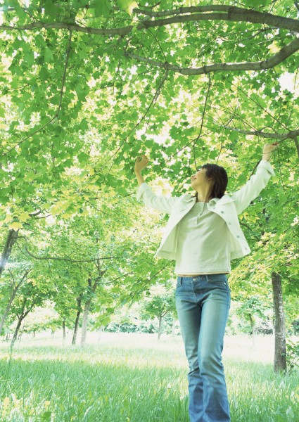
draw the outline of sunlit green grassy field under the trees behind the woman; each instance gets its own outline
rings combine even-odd
[[[89,335],[0,343],[0,421],[188,422],[180,337]],[[70,338],[68,338],[70,343]],[[272,339],[227,338],[224,367],[232,422],[298,422],[298,373],[272,369]]]

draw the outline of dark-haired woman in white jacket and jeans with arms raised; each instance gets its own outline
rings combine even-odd
[[[211,164],[191,177],[195,196],[156,196],[141,175],[148,158],[135,162],[137,199],[170,214],[155,256],[176,261],[176,305],[189,362],[191,422],[230,421],[221,357],[230,306],[227,274],[230,260],[250,252],[238,214],[274,174],[269,160],[275,148],[276,143],[264,146],[256,173],[232,196],[224,194],[227,172]]]

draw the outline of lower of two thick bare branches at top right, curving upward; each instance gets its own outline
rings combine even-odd
[[[137,56],[133,53],[125,53],[125,56],[134,58],[135,60],[148,63],[149,65],[157,66],[158,68],[165,68],[173,70],[174,72],[181,73],[182,75],[203,75],[210,72],[233,72],[240,70],[263,70],[274,68],[291,56],[293,53],[299,50],[299,38],[293,39],[289,44],[284,46],[278,53],[274,54],[267,60],[260,60],[258,62],[241,62],[241,63],[214,63],[212,65],[205,65],[202,68],[181,68],[177,65],[171,65],[170,63],[163,63],[151,58]]]

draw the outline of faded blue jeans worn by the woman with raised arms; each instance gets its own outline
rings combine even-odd
[[[227,276],[178,276],[175,296],[189,362],[190,421],[228,422],[229,402],[221,358],[231,300]]]

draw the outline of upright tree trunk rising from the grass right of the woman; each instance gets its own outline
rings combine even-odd
[[[284,324],[284,300],[282,297],[281,276],[272,273],[275,354],[274,372],[286,371],[286,327]]]

